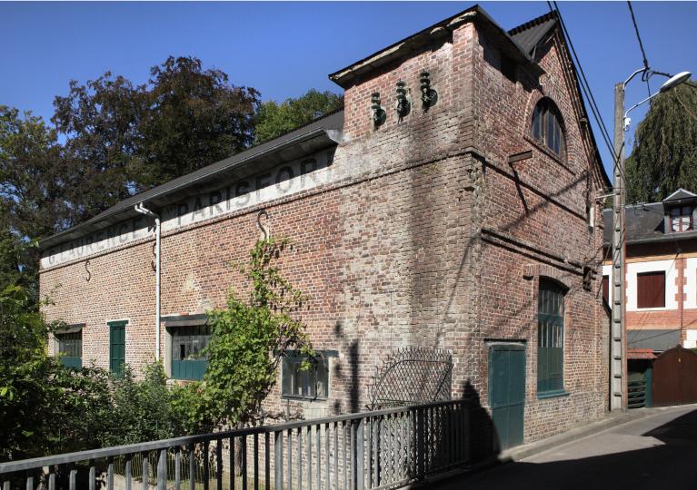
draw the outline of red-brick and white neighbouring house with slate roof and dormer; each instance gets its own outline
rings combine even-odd
[[[697,348],[697,194],[674,191],[661,202],[626,206],[627,368],[643,380],[650,403],[653,360],[682,346]],[[612,210],[605,224],[602,296],[612,301]]]

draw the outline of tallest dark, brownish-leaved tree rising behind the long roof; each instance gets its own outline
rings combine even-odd
[[[138,127],[141,187],[170,181],[241,152],[254,139],[259,93],[235,87],[201,60],[170,56],[150,70],[148,102]]]

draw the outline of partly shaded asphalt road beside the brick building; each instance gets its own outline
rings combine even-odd
[[[435,485],[433,485],[435,487]],[[697,489],[697,409],[671,407],[437,488]]]

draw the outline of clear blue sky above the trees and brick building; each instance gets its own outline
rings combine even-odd
[[[170,55],[194,55],[206,67],[253,86],[264,100],[309,88],[341,89],[328,73],[473,5],[469,2],[13,3],[0,2],[0,104],[50,119],[53,99],[71,79],[109,70],[143,83]],[[546,2],[483,2],[505,29],[549,11]],[[625,2],[560,2],[583,70],[612,137],[613,85],[642,65]],[[697,72],[697,3],[635,2],[652,67]],[[662,79],[652,79],[656,90]],[[647,94],[635,80],[627,105]],[[633,127],[644,111],[632,113]],[[594,127],[609,173],[610,153]],[[632,143],[630,132],[629,144]],[[630,146],[631,147],[631,146]]]

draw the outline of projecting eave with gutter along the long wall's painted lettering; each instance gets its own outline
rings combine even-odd
[[[194,186],[196,184],[204,183],[205,181],[210,181],[216,176],[219,176],[229,171],[233,171],[251,162],[259,161],[261,159],[264,159],[265,157],[273,155],[274,153],[282,152],[289,147],[299,145],[303,142],[314,140],[312,149],[314,151],[320,151],[322,147],[326,148],[328,146],[340,142],[342,136],[343,132],[340,129],[314,128],[308,132],[300,133],[295,137],[284,138],[282,142],[279,142],[275,145],[270,145],[268,148],[264,148],[264,151],[262,152],[252,152],[254,151],[253,147],[245,152],[237,153],[236,155],[233,155],[232,157],[229,157],[224,161],[218,162],[220,164],[225,161],[230,161],[229,165],[224,165],[208,172],[202,172],[208,168],[204,167],[203,169],[201,169],[201,171],[194,171],[191,174],[185,175],[179,179],[174,179],[174,181],[166,182],[163,185],[155,187],[154,189],[144,191],[140,194],[136,194],[130,198],[127,198],[124,201],[115,204],[108,210],[96,215],[94,218],[91,218],[90,220],[86,220],[85,222],[80,223],[68,230],[56,233],[55,235],[52,235],[51,237],[48,237],[45,240],[40,240],[39,250],[46,250],[67,240],[74,240],[78,237],[84,236],[85,233],[90,233],[96,230],[103,230],[104,228],[108,227],[111,224],[114,224],[115,222],[132,218],[137,214],[136,211],[134,211],[134,205],[139,202],[146,203],[157,201],[158,198],[163,198],[164,196],[174,194],[177,191],[183,191],[184,189]],[[278,139],[280,140],[282,138]],[[269,143],[273,142],[274,140],[272,140]],[[245,153],[248,154],[245,156]],[[215,165],[215,163],[212,165]],[[187,177],[193,177],[194,175],[194,178],[187,179]],[[177,184],[171,185],[173,182],[177,181]]]

